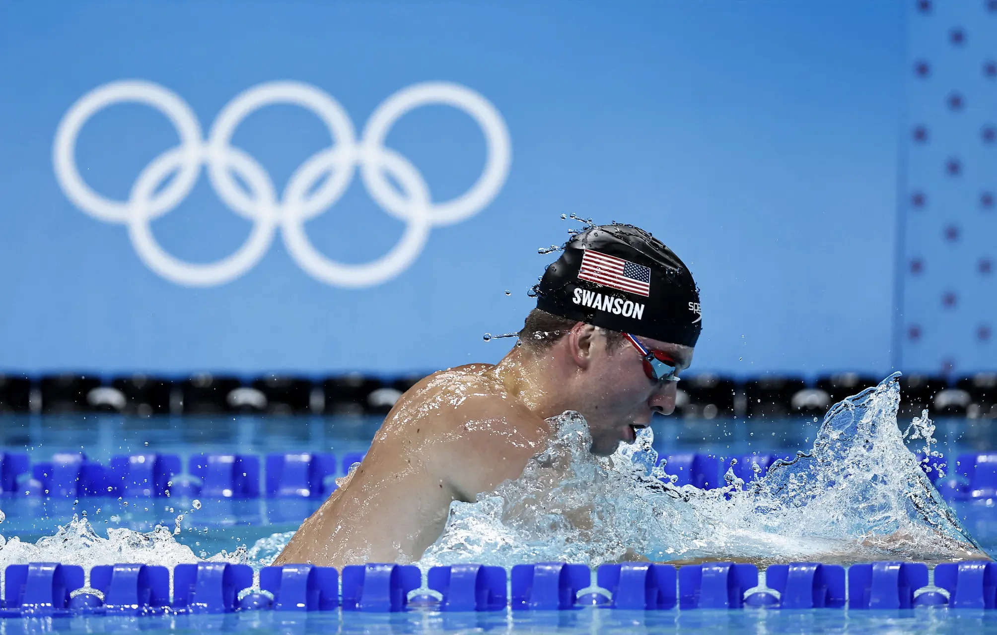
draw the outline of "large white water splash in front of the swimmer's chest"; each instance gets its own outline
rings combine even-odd
[[[747,490],[730,471],[730,484],[712,490],[663,482],[650,430],[611,457],[594,457],[584,419],[565,413],[557,439],[522,476],[477,502],[452,503],[420,564],[978,556],[903,445],[898,377],[835,405],[809,454],[777,462]],[[917,430],[930,438],[923,422]]]

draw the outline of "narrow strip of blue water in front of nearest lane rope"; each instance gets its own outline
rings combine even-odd
[[[997,630],[997,611],[927,609],[859,611],[846,609],[621,611],[495,611],[394,614],[235,613],[160,617],[0,619],[0,633],[985,633]]]

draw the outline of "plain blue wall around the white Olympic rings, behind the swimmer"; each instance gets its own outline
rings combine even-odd
[[[560,215],[573,212],[644,226],[690,265],[704,307],[695,369],[885,373],[898,359],[905,12],[860,0],[5,3],[0,367],[392,373],[494,361],[508,340],[482,334],[520,327],[525,291],[552,259],[536,249],[562,242],[571,225]],[[262,82],[328,93],[358,134],[396,91],[454,82],[498,110],[511,165],[487,207],[434,227],[382,284],[316,280],[278,230],[244,275],[183,286],[144,264],[125,225],[74,205],[54,174],[60,120],[122,79],[174,92],[204,135]],[[95,190],[125,199],[176,140],[162,114],[116,105],[86,124],[75,158]],[[434,201],[467,190],[486,156],[475,121],[445,106],[406,115],[386,143]],[[279,194],[330,142],[313,114],[270,106],[232,144]],[[177,257],[208,262],[251,223],[201,174],[152,227]],[[379,257],[405,228],[359,175],[306,227],[342,262]]]

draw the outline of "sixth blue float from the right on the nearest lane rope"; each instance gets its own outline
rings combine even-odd
[[[591,579],[587,564],[516,564],[511,573],[512,608],[551,611],[573,608],[578,590],[589,586]]]

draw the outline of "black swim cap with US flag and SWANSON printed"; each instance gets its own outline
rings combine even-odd
[[[675,253],[639,227],[596,225],[564,243],[534,287],[536,308],[586,324],[696,346],[699,289]]]

